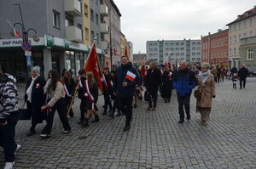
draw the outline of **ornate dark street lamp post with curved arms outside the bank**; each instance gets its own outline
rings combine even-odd
[[[29,28],[26,30],[25,25],[24,25],[24,21],[23,21],[23,16],[21,13],[21,8],[20,8],[20,3],[18,4],[14,4],[15,6],[19,6],[20,9],[20,18],[21,18],[21,23],[20,22],[16,22],[13,26],[15,27],[16,25],[20,25],[21,26],[21,30],[22,30],[22,42],[28,42],[28,32],[33,31],[34,32],[34,36],[33,36],[33,40],[35,42],[38,42],[40,39],[37,36],[37,31],[33,28]],[[14,32],[11,31],[10,33],[12,36],[15,36]],[[27,65],[27,70],[28,72],[31,70],[31,54],[26,53],[27,51],[25,51],[26,54],[26,65]]]

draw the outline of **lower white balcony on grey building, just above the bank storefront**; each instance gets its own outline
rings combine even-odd
[[[66,26],[66,38],[73,42],[82,42],[82,31],[76,26]]]

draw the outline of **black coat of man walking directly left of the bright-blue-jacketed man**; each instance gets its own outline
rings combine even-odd
[[[161,71],[157,68],[154,70],[147,70],[147,76],[145,79],[145,87],[150,92],[158,91],[161,83]]]

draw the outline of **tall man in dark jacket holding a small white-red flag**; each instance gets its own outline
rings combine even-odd
[[[130,130],[132,118],[132,101],[137,85],[137,70],[132,66],[127,56],[121,57],[121,66],[115,71],[113,94],[119,101],[120,110],[125,114],[124,131]]]

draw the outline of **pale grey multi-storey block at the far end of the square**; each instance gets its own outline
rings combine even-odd
[[[147,60],[164,64],[168,57],[172,63],[186,60],[189,64],[201,62],[201,40],[166,40],[147,42]]]

